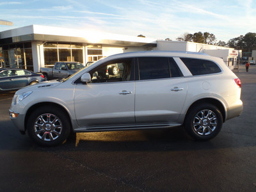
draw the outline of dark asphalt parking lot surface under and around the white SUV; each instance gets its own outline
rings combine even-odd
[[[77,133],[38,147],[8,116],[0,95],[0,191],[256,191],[256,66],[242,81],[241,116],[211,141],[170,130]]]

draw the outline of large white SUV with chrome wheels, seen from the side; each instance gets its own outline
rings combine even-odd
[[[115,76],[100,76],[106,66]],[[99,60],[62,81],[17,91],[10,118],[45,146],[70,131],[124,131],[184,125],[209,140],[243,111],[241,82],[223,60],[192,52],[146,51]]]

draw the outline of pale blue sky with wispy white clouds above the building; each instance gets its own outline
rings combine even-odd
[[[1,0],[0,20],[13,22],[0,31],[38,24],[163,40],[207,31],[227,42],[256,33],[256,0]]]

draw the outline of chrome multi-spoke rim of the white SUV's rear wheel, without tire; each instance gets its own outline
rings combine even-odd
[[[193,129],[197,134],[202,136],[209,135],[214,132],[217,125],[217,116],[209,109],[199,111],[193,119]]]

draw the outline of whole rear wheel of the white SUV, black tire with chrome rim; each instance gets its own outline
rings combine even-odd
[[[211,140],[220,132],[222,124],[220,110],[213,104],[202,103],[188,111],[184,127],[196,140]]]

